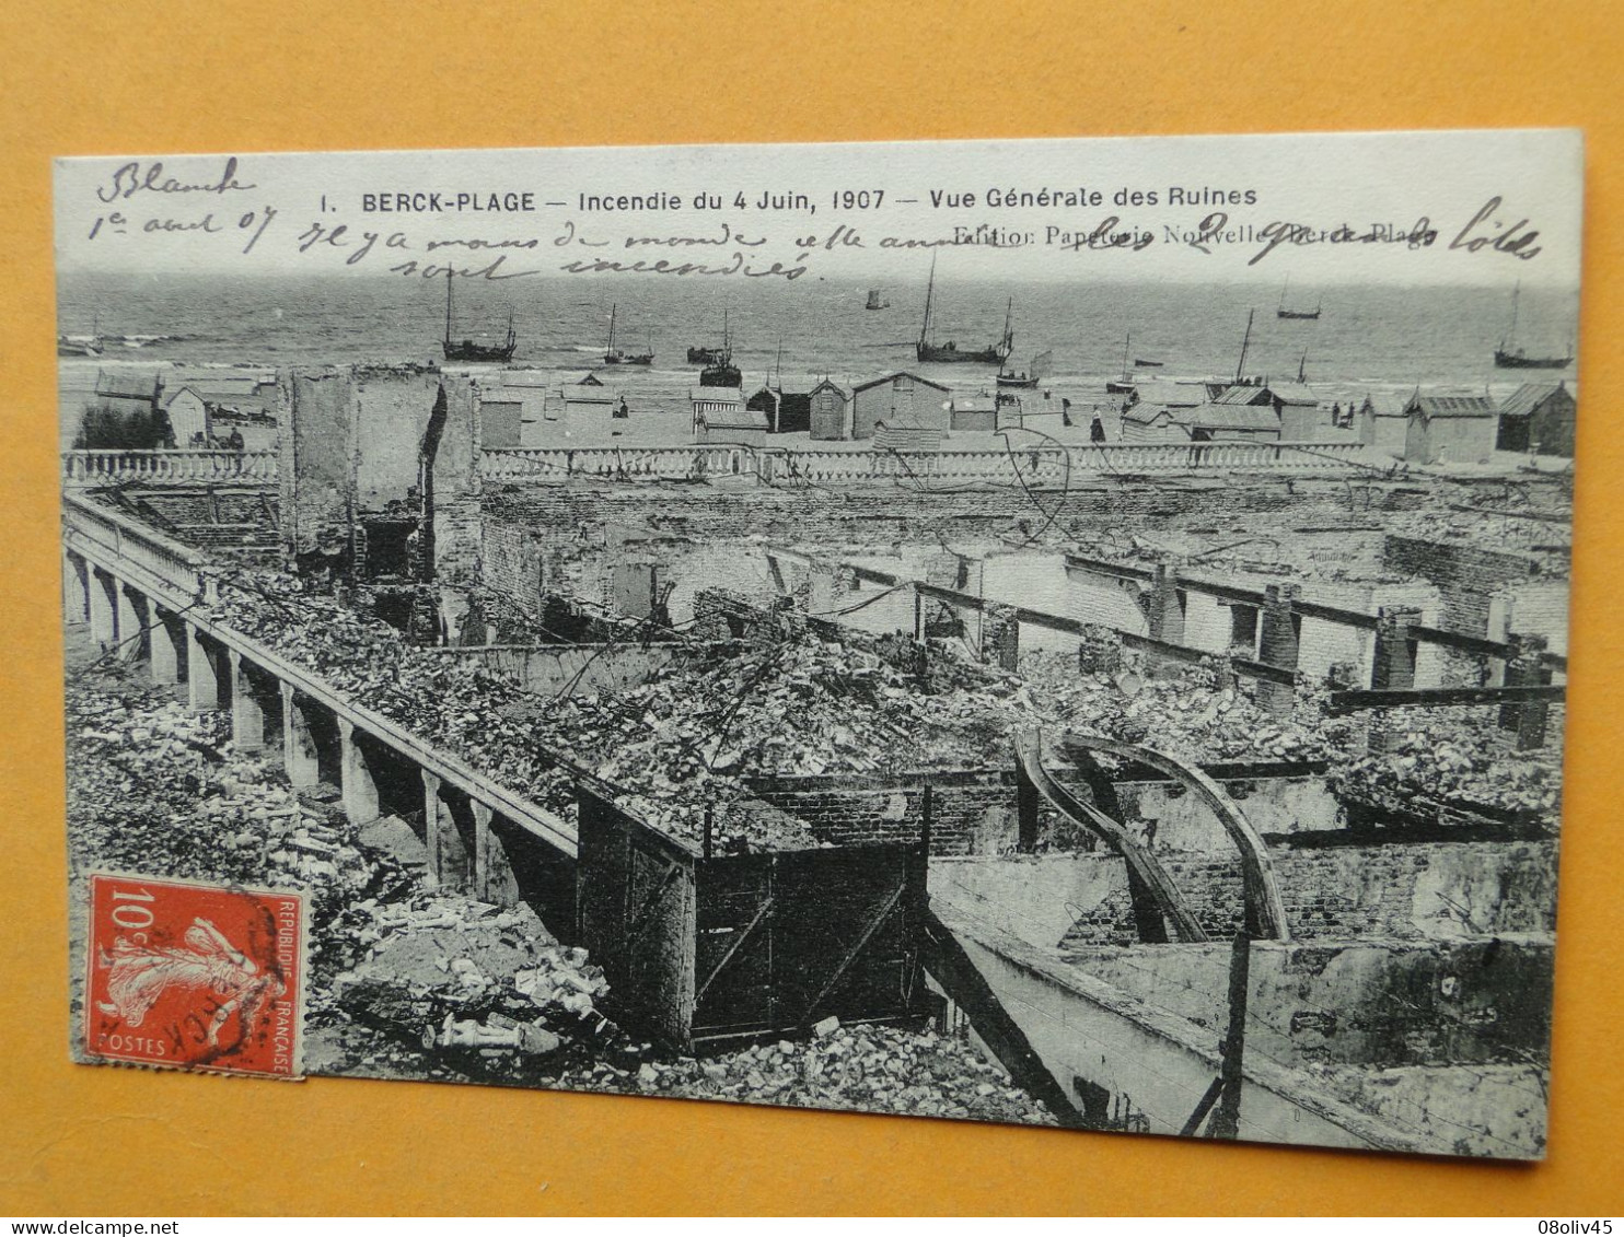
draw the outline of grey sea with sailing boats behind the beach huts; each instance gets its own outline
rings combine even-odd
[[[879,287],[885,308],[867,310],[869,286],[807,276],[797,282],[658,276],[568,276],[456,286],[453,334],[497,341],[508,315],[518,334],[515,367],[612,375],[633,409],[685,409],[697,383],[690,346],[723,339],[726,315],[745,388],[768,377],[806,390],[822,377],[861,380],[906,369],[974,394],[992,386],[991,367],[919,365],[914,343],[924,286]],[[1104,383],[1137,362],[1140,377],[1233,377],[1247,341],[1247,375],[1294,378],[1325,398],[1364,390],[1504,394],[1530,378],[1572,380],[1574,370],[1496,370],[1492,352],[1512,325],[1512,295],[1486,287],[1291,284],[1291,308],[1319,305],[1317,320],[1276,317],[1278,284],[1173,282],[937,282],[932,338],[981,349],[1015,336],[1012,369],[1051,352],[1046,411],[1062,398],[1108,406]],[[242,276],[205,273],[63,273],[58,334],[99,336],[96,357],[62,357],[63,443],[107,369],[166,365],[315,365],[430,362],[445,331],[443,281],[361,273]],[[653,351],[645,369],[601,365],[614,310],[617,344]],[[1575,343],[1577,292],[1522,289],[1515,343],[1564,356]],[[1026,398],[1031,398],[1030,394]]]

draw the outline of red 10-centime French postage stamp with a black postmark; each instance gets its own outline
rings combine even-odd
[[[96,873],[89,896],[91,1055],[299,1076],[304,894]]]

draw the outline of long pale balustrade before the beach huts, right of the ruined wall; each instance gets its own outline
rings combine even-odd
[[[1085,443],[983,451],[793,450],[758,446],[581,446],[484,451],[486,481],[617,481],[755,476],[773,485],[997,481],[1064,485],[1080,476],[1147,472],[1324,472],[1359,463],[1359,443]]]

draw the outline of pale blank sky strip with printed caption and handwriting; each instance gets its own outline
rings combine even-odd
[[[57,260],[1574,289],[1582,183],[1575,130],[132,154],[58,161]]]

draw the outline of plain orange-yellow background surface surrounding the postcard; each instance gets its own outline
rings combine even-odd
[[[1618,1213],[1608,769],[1624,739],[1614,0],[0,11],[0,1213]],[[1535,1167],[67,1057],[50,166],[58,154],[1577,125],[1575,687],[1549,1159]]]

